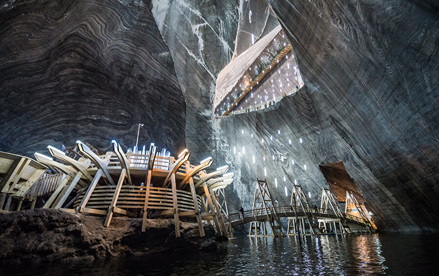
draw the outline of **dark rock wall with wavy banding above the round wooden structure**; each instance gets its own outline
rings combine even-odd
[[[139,144],[185,147],[186,105],[151,4],[123,2],[1,4],[0,150],[131,147],[138,123]]]

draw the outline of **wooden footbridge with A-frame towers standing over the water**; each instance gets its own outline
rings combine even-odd
[[[350,214],[354,209],[360,217]],[[293,186],[289,206],[275,206],[265,180],[258,180],[253,209],[228,216],[232,227],[250,223],[249,236],[274,237],[284,236],[280,218],[288,219],[286,235],[316,235],[325,232],[349,234],[374,232],[376,229],[353,195],[348,192],[345,212],[341,212],[338,201],[327,188],[322,188],[320,208],[311,208],[300,185]],[[271,228],[271,235],[267,235],[267,228]]]

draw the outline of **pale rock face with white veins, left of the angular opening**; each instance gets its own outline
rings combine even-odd
[[[152,4],[186,98],[186,145],[195,163],[215,154],[215,82],[234,53],[238,4],[233,0],[152,0]]]

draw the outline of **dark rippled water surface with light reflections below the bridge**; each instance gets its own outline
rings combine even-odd
[[[20,265],[0,275],[439,275],[438,241],[425,234],[238,236],[218,252]]]

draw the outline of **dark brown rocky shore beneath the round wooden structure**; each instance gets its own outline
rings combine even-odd
[[[225,247],[212,225],[204,225],[200,238],[196,223],[180,222],[175,238],[174,220],[113,218],[109,227],[102,218],[55,209],[35,209],[0,214],[0,263],[93,260],[124,255],[164,253],[175,250],[217,250]]]

